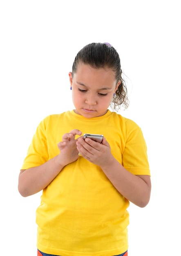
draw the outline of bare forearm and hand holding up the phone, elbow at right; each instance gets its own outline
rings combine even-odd
[[[134,175],[127,171],[111,154],[106,139],[102,144],[91,139],[78,139],[79,153],[101,167],[107,178],[127,200],[145,207],[150,200],[151,181],[148,175]]]

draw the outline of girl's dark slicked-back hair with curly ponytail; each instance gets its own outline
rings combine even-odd
[[[108,43],[90,43],[83,47],[74,60],[72,76],[76,73],[79,63],[91,65],[93,68],[111,68],[115,72],[116,81],[121,81],[112,98],[111,107],[114,110],[121,108],[121,105],[128,107],[127,88],[122,77],[120,58],[114,47]]]

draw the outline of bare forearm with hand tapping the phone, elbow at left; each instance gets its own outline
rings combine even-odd
[[[58,143],[60,153],[56,157],[40,166],[20,171],[18,191],[22,196],[33,195],[45,189],[64,166],[78,159],[76,134],[81,135],[82,132],[75,129],[63,135],[63,140]]]

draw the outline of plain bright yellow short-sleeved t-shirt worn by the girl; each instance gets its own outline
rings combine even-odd
[[[59,154],[58,142],[73,129],[103,134],[112,155],[134,175],[150,175],[141,128],[116,112],[86,119],[74,110],[46,117],[38,126],[22,169]],[[36,211],[37,247],[47,254],[111,256],[128,248],[129,201],[99,166],[82,156],[65,166],[42,192]]]

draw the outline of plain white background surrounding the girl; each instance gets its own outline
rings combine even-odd
[[[40,193],[22,198],[18,174],[39,122],[72,110],[77,52],[109,42],[127,76],[152,174],[147,207],[129,207],[129,256],[181,255],[179,0],[0,1],[0,254],[36,255]]]

